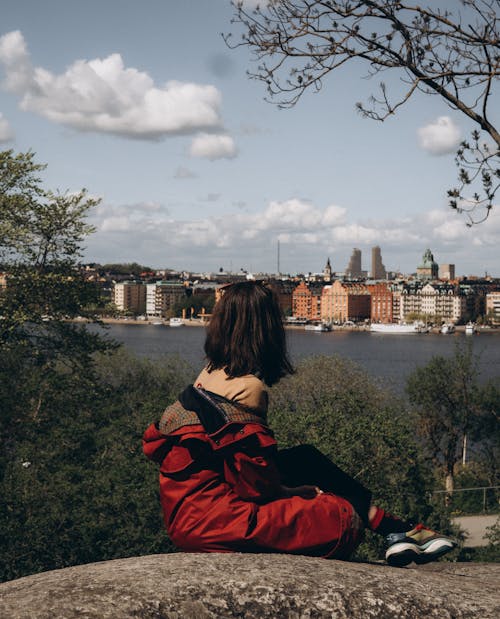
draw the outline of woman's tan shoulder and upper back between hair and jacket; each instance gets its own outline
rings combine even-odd
[[[249,408],[264,412],[267,410],[266,386],[254,374],[230,377],[224,370],[209,372],[207,368],[204,368],[194,384],[196,387],[201,387]]]

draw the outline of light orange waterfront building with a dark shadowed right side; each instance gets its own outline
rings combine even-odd
[[[370,318],[370,293],[365,284],[336,280],[330,286],[323,288],[322,321],[345,322],[367,318]]]

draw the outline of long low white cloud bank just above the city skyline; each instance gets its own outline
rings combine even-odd
[[[133,207],[98,207],[93,221],[98,232],[90,238],[89,260],[137,260],[193,270],[217,270],[238,260],[238,267],[272,271],[279,240],[282,266],[292,272],[321,270],[328,256],[334,270],[342,271],[353,247],[362,250],[364,268],[369,269],[370,249],[380,245],[388,269],[414,271],[430,247],[438,263],[455,263],[459,274],[487,270],[500,276],[500,206],[486,223],[473,228],[447,208],[413,217],[356,221],[343,207],[320,208],[298,198],[272,201],[252,213],[235,208],[230,216],[213,214],[192,221],[175,219],[164,208]]]

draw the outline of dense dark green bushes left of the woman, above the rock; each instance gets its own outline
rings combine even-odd
[[[12,384],[29,415],[0,481],[0,579],[171,550],[141,436],[192,370],[119,351],[85,375],[43,368],[26,377]]]

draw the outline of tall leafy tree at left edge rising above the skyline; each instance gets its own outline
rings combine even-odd
[[[92,319],[94,284],[79,269],[86,221],[97,204],[85,190],[54,194],[32,152],[0,152],[0,472],[16,436],[36,423],[53,383],[92,372],[92,353],[113,347],[69,319]]]

